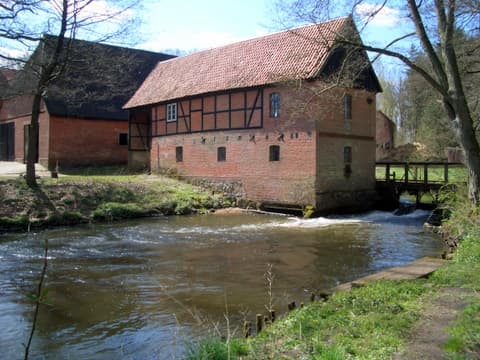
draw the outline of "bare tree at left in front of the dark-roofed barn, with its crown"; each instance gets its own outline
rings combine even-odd
[[[5,0],[0,3],[0,59],[29,67],[30,74],[34,74],[28,79],[28,95],[32,97],[26,154],[29,186],[36,186],[42,98],[71,60],[69,44],[78,33],[94,37],[94,41],[124,34],[132,24],[127,17],[129,10],[137,3],[138,0]],[[46,34],[56,36],[46,37]],[[36,54],[27,60],[26,55],[35,46]]]

